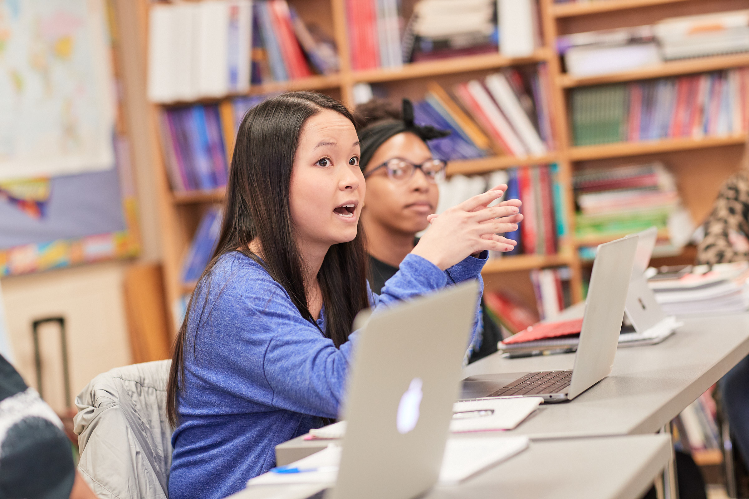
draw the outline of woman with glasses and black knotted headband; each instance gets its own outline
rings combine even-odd
[[[405,116],[405,119],[403,119]],[[403,111],[388,102],[373,100],[357,107],[362,156],[360,166],[366,180],[362,225],[369,251],[369,285],[380,293],[385,282],[413,251],[416,233],[429,225],[437,209],[437,183],[445,177],[447,164],[435,159],[427,141],[449,132],[413,123],[410,102]],[[508,200],[502,206],[520,206]],[[500,330],[485,311],[471,345],[469,362],[497,352]]]

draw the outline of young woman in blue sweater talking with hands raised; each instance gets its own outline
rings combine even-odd
[[[375,295],[359,217],[350,112],[311,92],[262,102],[237,133],[216,252],[192,294],[169,376],[170,499],[224,498],[275,465],[274,447],[338,416],[366,307],[481,279],[521,221],[491,190],[431,219]]]

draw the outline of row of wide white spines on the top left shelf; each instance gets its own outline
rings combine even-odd
[[[160,3],[149,16],[150,100],[195,100],[249,90],[249,0]]]

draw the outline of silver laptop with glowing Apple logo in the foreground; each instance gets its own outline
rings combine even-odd
[[[369,318],[347,390],[338,480],[312,497],[410,499],[437,483],[478,293],[470,281]]]

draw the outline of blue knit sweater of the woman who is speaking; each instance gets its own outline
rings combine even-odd
[[[386,307],[453,282],[481,281],[486,253],[481,257],[443,272],[409,254],[382,294],[370,292],[371,304]],[[210,277],[210,289],[198,287],[188,320],[170,499],[234,494],[275,466],[277,444],[322,426],[321,417],[337,417],[357,344],[355,331],[336,349],[284,288],[239,252],[222,256]],[[318,325],[325,329],[324,310]]]

